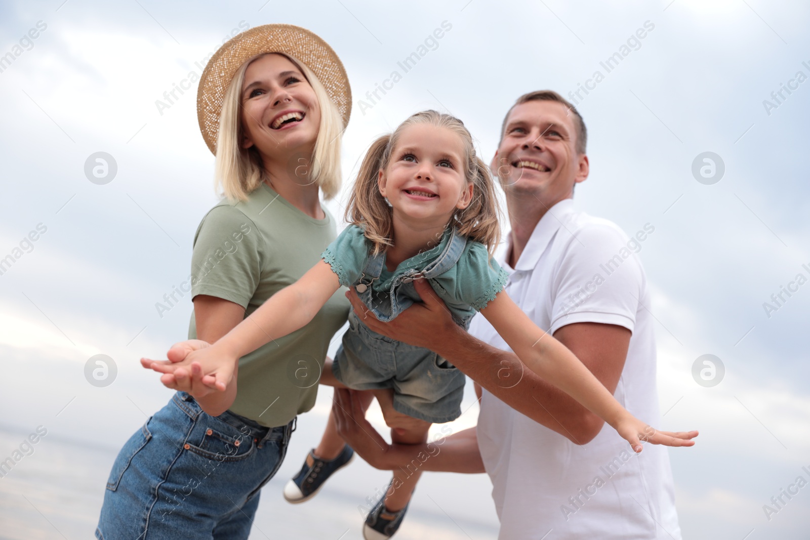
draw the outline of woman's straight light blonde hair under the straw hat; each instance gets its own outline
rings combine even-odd
[[[315,92],[321,108],[321,123],[318,126],[315,149],[309,160],[309,182],[318,184],[324,198],[334,198],[340,190],[340,135],[343,133],[343,117],[312,70],[283,53],[262,53],[252,57],[233,75],[222,101],[220,131],[216,138],[215,188],[231,201],[245,201],[248,194],[265,179],[262,156],[256,147],[241,147],[245,137],[241,121],[241,89],[250,63],[266,54],[286,57],[301,70]],[[298,167],[293,164],[292,169],[297,171]]]

